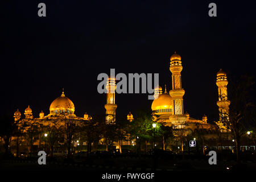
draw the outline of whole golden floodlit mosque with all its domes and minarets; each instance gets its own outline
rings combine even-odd
[[[220,69],[217,72],[216,85],[218,86],[218,101],[217,105],[220,111],[220,119],[215,122],[216,125],[207,122],[207,116],[203,115],[202,119],[195,119],[190,117],[189,113],[184,113],[183,106],[183,96],[185,94],[184,88],[181,86],[181,71],[183,69],[181,56],[176,52],[170,57],[170,71],[172,73],[171,82],[172,89],[167,92],[166,86],[163,92],[161,86],[156,86],[154,92],[154,101],[152,101],[151,110],[152,118],[155,122],[163,123],[165,126],[172,126],[173,129],[186,129],[188,134],[192,134],[198,130],[229,132],[229,130],[221,122],[222,117],[225,113],[229,111],[230,101],[228,100],[228,91],[226,85],[228,85],[228,80],[226,73]],[[115,93],[110,92],[115,90],[115,78],[109,78],[106,84],[106,89],[109,91],[107,93],[107,103],[105,105],[106,109],[106,125],[115,124],[115,109],[117,109],[117,104],[115,104]],[[24,118],[21,118],[21,113],[19,110],[15,111],[14,118],[15,121],[19,119],[21,121],[36,121],[39,123],[49,123],[55,119],[63,117],[63,114],[67,117],[76,119],[79,121],[89,121],[92,116],[87,113],[84,117],[79,117],[75,115],[75,105],[68,97],[65,96],[64,90],[60,97],[57,97],[49,106],[49,114],[44,115],[43,111],[40,112],[38,118],[34,118],[32,114],[32,109],[30,106],[24,110]],[[133,122],[133,114],[129,113],[127,115],[127,120]],[[127,142],[126,144],[131,144]]]

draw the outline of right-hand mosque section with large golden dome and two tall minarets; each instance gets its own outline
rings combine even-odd
[[[188,133],[193,133],[196,130],[216,130],[218,127],[222,132],[226,131],[226,127],[221,122],[222,115],[220,114],[220,121],[216,122],[217,125],[207,123],[207,116],[204,114],[202,119],[195,119],[190,117],[186,112],[184,113],[183,96],[185,90],[181,86],[181,71],[183,69],[181,56],[176,52],[170,58],[170,71],[172,73],[172,89],[169,93],[161,86],[156,86],[154,92],[154,101],[152,102],[151,109],[153,112],[154,121],[163,123],[165,126],[172,126],[174,129],[187,129]],[[217,73],[218,94],[222,95],[217,101],[220,112],[227,113],[229,110],[230,101],[228,101],[227,88],[228,84],[226,73],[222,70]],[[218,126],[218,127],[217,127]]]

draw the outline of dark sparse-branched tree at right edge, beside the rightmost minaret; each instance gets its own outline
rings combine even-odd
[[[230,129],[236,141],[237,162],[240,161],[240,141],[242,135],[246,134],[246,126],[255,119],[255,100],[253,97],[254,78],[241,76],[230,82],[229,111],[222,113],[222,123]]]

